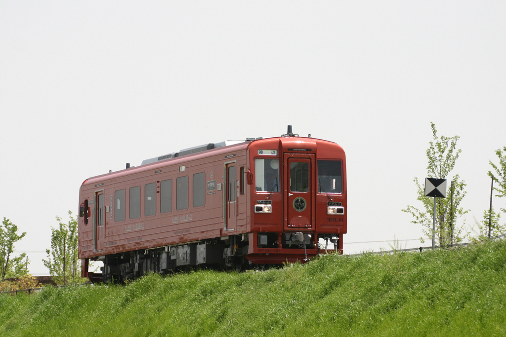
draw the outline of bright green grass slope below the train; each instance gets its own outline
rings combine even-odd
[[[0,296],[2,336],[504,336],[506,242]]]

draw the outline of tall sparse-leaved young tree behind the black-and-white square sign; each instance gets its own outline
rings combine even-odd
[[[429,161],[427,176],[429,178],[447,179],[461,152],[456,148],[459,137],[438,137],[436,126],[432,122],[431,128],[434,141],[429,143],[429,149],[426,151]],[[402,211],[411,214],[414,217],[411,223],[423,226],[424,234],[432,239],[434,200],[425,196],[425,188],[419,183],[418,178],[414,178],[414,182],[418,195],[416,200],[421,201],[423,209],[419,210],[408,205]],[[466,196],[464,190],[466,183],[460,180],[458,174],[455,174],[451,181],[448,181],[447,187],[446,198],[437,198],[436,200],[436,238],[441,247],[450,246],[461,241],[462,227],[455,228],[455,219],[468,212],[468,210],[463,210],[460,207],[460,202]],[[424,242],[423,237],[420,240]]]

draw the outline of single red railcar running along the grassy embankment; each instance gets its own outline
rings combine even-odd
[[[243,268],[343,250],[346,159],[336,143],[248,138],[181,150],[85,180],[79,258],[104,281],[185,266]]]

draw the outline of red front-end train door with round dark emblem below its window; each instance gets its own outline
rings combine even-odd
[[[286,154],[284,229],[313,229],[314,155]]]

